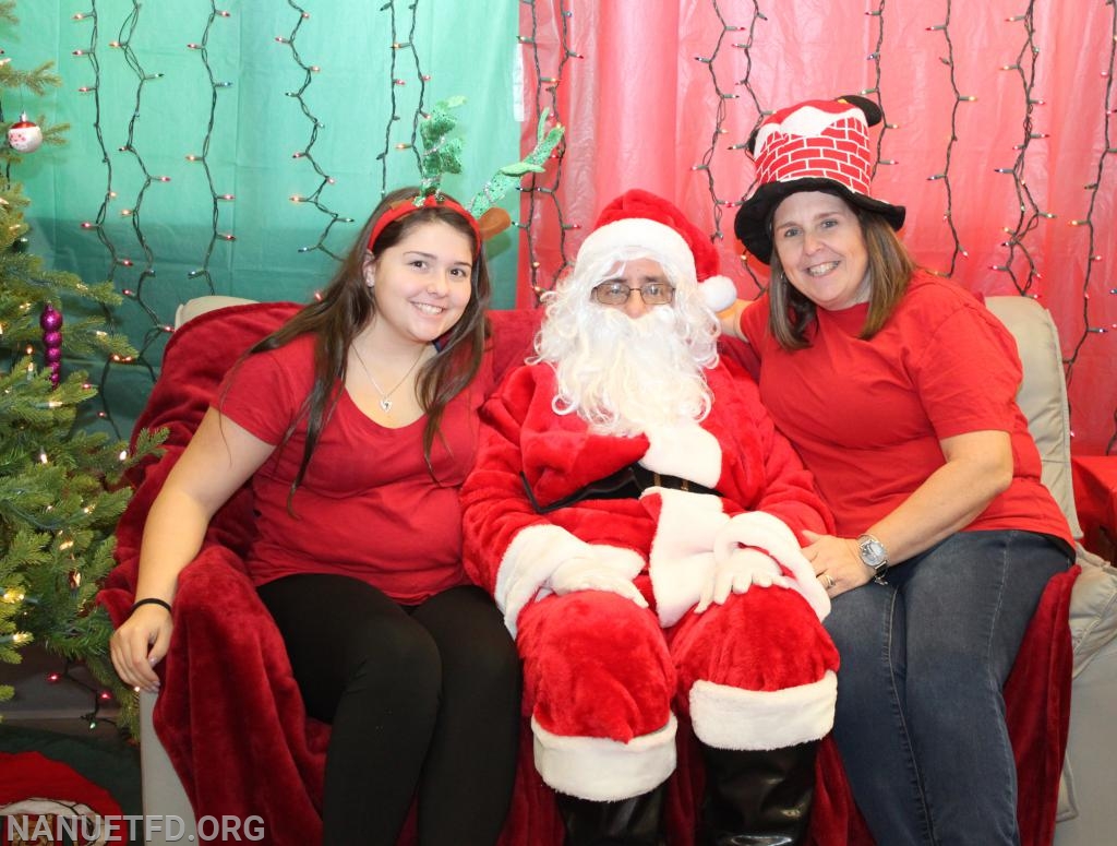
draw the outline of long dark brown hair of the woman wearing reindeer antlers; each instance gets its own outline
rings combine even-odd
[[[290,485],[290,496],[303,482],[311,456],[318,444],[322,429],[330,420],[337,400],[345,386],[349,369],[349,349],[353,339],[375,314],[375,301],[365,284],[364,266],[367,260],[366,245],[372,228],[380,216],[400,202],[409,202],[419,192],[418,188],[401,188],[386,194],[373,210],[369,220],[361,229],[356,240],[350,248],[344,262],[330,284],[322,291],[317,302],[304,306],[294,317],[277,331],[252,346],[247,354],[275,350],[290,343],[302,335],[313,334],[314,344],[314,387],[303,401],[303,407],[295,420],[284,434],[286,444],[299,421],[306,419],[306,445],[303,449],[303,460],[298,473]],[[481,357],[489,335],[488,304],[491,296],[488,267],[485,254],[468,220],[459,212],[440,206],[417,208],[384,227],[384,230],[372,245],[374,256],[402,240],[419,226],[429,222],[443,222],[465,235],[472,248],[472,273],[470,287],[472,294],[465,312],[454,327],[442,336],[439,351],[435,358],[427,361],[417,377],[417,395],[419,403],[427,415],[423,427],[423,458],[431,476],[435,476],[430,453],[435,438],[439,436],[439,425],[446,406],[460,393],[477,376]]]

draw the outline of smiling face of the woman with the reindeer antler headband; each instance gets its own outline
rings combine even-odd
[[[376,303],[372,332],[386,342],[433,341],[465,312],[471,276],[469,238],[441,221],[417,226],[365,263],[365,283]]]

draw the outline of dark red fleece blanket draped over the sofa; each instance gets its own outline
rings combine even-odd
[[[136,421],[136,431],[168,427],[165,455],[137,467],[130,479],[135,495],[117,529],[120,563],[99,595],[114,622],[123,621],[133,601],[147,510],[217,386],[244,350],[296,308],[292,303],[260,303],[210,312],[190,321],[168,343],[162,374]],[[498,373],[523,360],[538,317],[529,311],[494,313]],[[318,811],[330,728],[306,716],[283,639],[245,572],[251,539],[251,495],[242,488],[214,516],[201,553],[180,577],[174,637],[159,666],[162,692],[155,731],[198,817],[255,815],[265,820],[267,843],[305,846],[322,838]],[[1006,688],[1016,763],[1027,773],[1020,795],[1025,846],[1046,846],[1054,829],[1070,714],[1067,614],[1076,574],[1052,580]],[[519,755],[502,844],[557,846],[561,825],[551,791],[535,772],[526,726]],[[829,739],[818,772],[814,846],[872,846]],[[696,745],[680,725],[679,768],[666,811],[672,846],[694,843],[701,788]],[[409,825],[401,843],[413,840]]]

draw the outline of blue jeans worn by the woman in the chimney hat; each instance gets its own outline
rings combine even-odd
[[[878,844],[1020,843],[1001,691],[1069,564],[1041,534],[958,532],[834,599],[834,740]]]

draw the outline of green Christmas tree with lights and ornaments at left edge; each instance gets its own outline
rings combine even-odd
[[[13,7],[0,0],[0,20],[15,23]],[[49,63],[20,72],[0,60],[0,97],[58,84]],[[131,494],[122,475],[154,445],[145,437],[130,454],[126,444],[84,430],[79,411],[96,389],[84,372],[65,371],[74,360],[126,361],[135,351],[107,329],[105,315],[121,302],[112,283],[86,285],[28,250],[28,201],[11,174],[41,144],[61,144],[67,127],[26,115],[8,122],[2,111],[0,125],[0,660],[18,663],[19,649],[36,640],[83,662],[131,723],[133,697],[108,660],[112,627],[94,599],[114,564],[113,531]],[[11,695],[0,686],[0,701]]]

